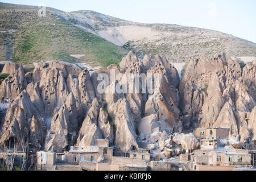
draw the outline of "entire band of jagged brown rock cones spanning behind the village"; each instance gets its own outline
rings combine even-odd
[[[123,153],[144,147],[170,158],[199,146],[192,134],[180,134],[196,126],[225,127],[237,140],[255,139],[255,69],[254,63],[242,69],[224,53],[191,60],[181,81],[166,57],[141,60],[133,52],[119,67],[91,75],[58,61],[38,63],[26,75],[22,65],[6,64],[10,76],[0,85],[0,97],[13,101],[1,122],[0,143],[22,138],[33,152],[65,151],[109,139]],[[127,80],[131,73],[132,81],[139,77],[139,92]],[[100,75],[108,76],[105,90],[121,92],[99,92]],[[152,92],[142,92],[144,82]]]

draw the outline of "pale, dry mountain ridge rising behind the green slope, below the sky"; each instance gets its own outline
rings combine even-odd
[[[19,5],[6,3],[1,3],[0,9],[3,5],[19,9]],[[26,7],[32,9],[31,6],[25,5],[22,9]],[[33,6],[33,8],[36,7]],[[37,7],[36,10],[39,8]],[[232,57],[256,57],[255,43],[220,31],[177,24],[131,22],[92,10],[64,12],[48,7],[46,10],[47,16],[51,14],[73,27],[97,35],[118,46],[117,49],[121,47],[123,50],[133,51],[141,59],[146,54],[159,54],[166,56],[173,63],[181,63],[196,59],[200,55],[212,57],[218,52],[228,53]],[[125,53],[117,56],[119,60]],[[68,52],[68,55],[71,54],[83,53]],[[63,56],[55,58],[61,59],[61,57],[63,58]],[[69,61],[72,59],[68,57]],[[86,61],[86,59],[81,61]],[[88,62],[90,64],[90,61]],[[113,63],[118,63],[118,61],[115,60]]]

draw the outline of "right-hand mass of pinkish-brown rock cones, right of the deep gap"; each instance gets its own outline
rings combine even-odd
[[[244,113],[256,105],[254,77],[253,63],[242,69],[225,53],[191,60],[179,86],[184,130],[195,125],[228,127],[230,134],[247,137]]]

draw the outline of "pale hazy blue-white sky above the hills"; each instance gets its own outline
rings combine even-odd
[[[63,11],[94,10],[141,23],[171,23],[208,28],[256,43],[255,0],[10,0],[7,3],[35,5]]]

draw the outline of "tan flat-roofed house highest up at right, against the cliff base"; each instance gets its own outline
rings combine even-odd
[[[193,131],[196,137],[200,139],[226,139],[229,138],[229,130],[220,127],[204,128],[200,127]]]

